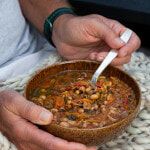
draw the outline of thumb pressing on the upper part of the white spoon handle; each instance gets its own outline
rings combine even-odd
[[[101,23],[97,25],[96,28],[98,30],[98,36],[105,41],[105,43],[112,49],[120,49],[125,45],[124,41],[122,41],[110,27],[106,24]]]

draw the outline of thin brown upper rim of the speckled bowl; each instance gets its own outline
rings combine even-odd
[[[93,61],[93,60],[69,60],[69,61],[63,61],[63,62],[56,62],[52,65],[49,65],[49,66],[46,66],[38,71],[36,71],[33,76],[27,81],[27,84],[24,88],[24,97],[26,98],[26,93],[27,93],[27,87],[28,85],[30,84],[30,82],[35,78],[35,76],[38,76],[41,72],[43,72],[44,70],[46,69],[49,69],[49,68],[53,68],[55,66],[58,66],[58,65],[65,65],[65,64],[72,64],[72,63],[78,63],[78,62],[83,62],[83,63],[95,63],[95,64],[100,64],[101,62],[97,62],[97,61]],[[111,68],[113,69],[116,69],[117,71],[119,72],[122,72],[123,74],[125,74],[127,77],[129,77],[131,80],[133,80],[134,84],[136,85],[136,87],[138,88],[138,92],[139,92],[139,100],[138,100],[138,104],[136,106],[136,108],[134,109],[134,111],[129,114],[127,117],[117,121],[117,122],[114,122],[110,125],[107,125],[107,126],[104,126],[104,127],[96,127],[96,128],[75,128],[75,127],[72,127],[72,128],[67,128],[67,127],[63,127],[61,125],[58,125],[56,123],[50,123],[49,125],[44,125],[44,126],[55,126],[57,128],[62,128],[62,129],[67,129],[67,130],[78,130],[78,131],[95,131],[95,130],[105,130],[105,129],[108,129],[108,128],[111,128],[112,126],[115,126],[115,125],[118,125],[118,124],[122,124],[123,122],[127,121],[128,118],[132,117],[132,115],[134,113],[138,113],[139,111],[139,108],[140,108],[140,105],[141,105],[141,90],[140,90],[140,87],[137,83],[137,81],[132,77],[130,76],[127,72],[125,72],[124,70],[121,70],[115,66],[112,66],[111,64],[109,65]],[[136,100],[136,99],[135,99]]]

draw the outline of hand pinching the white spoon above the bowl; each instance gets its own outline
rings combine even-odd
[[[141,43],[134,32],[127,44],[121,41],[119,37],[125,30],[119,22],[100,15],[78,17],[67,14],[56,20],[53,41],[59,53],[68,60],[102,61],[110,49],[116,49],[118,57],[112,64],[119,66],[130,61]]]

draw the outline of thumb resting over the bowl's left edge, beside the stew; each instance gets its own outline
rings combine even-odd
[[[32,123],[46,125],[52,121],[52,113],[41,106],[26,100],[14,91],[4,91],[5,107],[16,115],[31,121]]]

